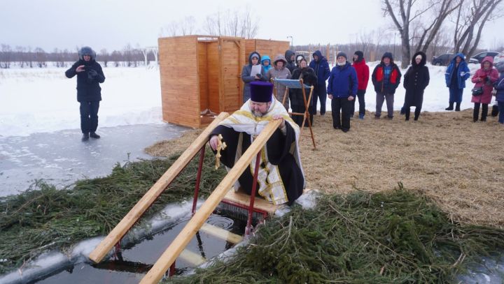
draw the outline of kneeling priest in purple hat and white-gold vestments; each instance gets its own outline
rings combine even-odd
[[[221,163],[230,170],[269,121],[281,119],[279,128],[262,147],[257,193],[275,205],[293,204],[302,195],[304,188],[298,145],[300,128],[290,119],[281,102],[272,95],[273,84],[255,81],[250,85],[251,98],[212,131],[210,147],[216,152],[218,135],[221,134],[222,142],[227,144],[221,150]],[[251,194],[256,158],[254,156],[238,178],[235,190],[241,187]]]

